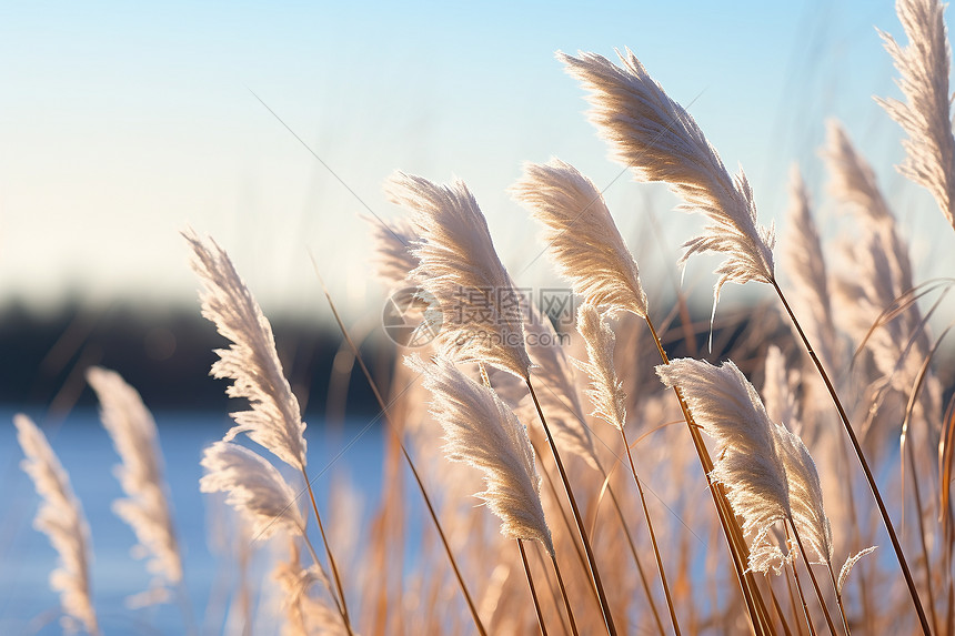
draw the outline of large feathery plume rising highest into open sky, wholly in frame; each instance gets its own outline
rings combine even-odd
[[[693,118],[670,99],[631,52],[622,67],[595,53],[557,53],[567,72],[591,91],[591,121],[610,143],[613,158],[641,181],[663,181],[683,199],[683,209],[705,214],[707,232],[685,243],[681,262],[700,252],[721,252],[715,300],[726,282],[773,281],[772,228],[756,223],[756,205],[745,174],[731,176]],[[715,309],[715,305],[714,305]]]

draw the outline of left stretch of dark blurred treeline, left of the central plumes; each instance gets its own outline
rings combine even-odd
[[[279,355],[299,400],[309,412],[324,415],[365,415],[378,412],[374,396],[361,375],[351,382],[339,374],[331,391],[335,355],[342,343],[338,330],[304,320],[271,320]],[[185,309],[114,306],[91,310],[78,304],[53,312],[22,305],[0,310],[0,402],[13,407],[48,407],[66,412],[92,406],[96,397],[83,370],[99,364],[132,384],[152,410],[235,408],[225,397],[227,381],[209,375],[214,349],[227,346],[214,326]],[[393,347],[363,345],[366,362],[386,380]],[[343,362],[339,366],[346,369]],[[355,371],[358,367],[355,366]],[[345,400],[342,401],[342,394]]]

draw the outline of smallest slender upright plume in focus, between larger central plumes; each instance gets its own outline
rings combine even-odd
[[[597,309],[584,303],[577,310],[577,331],[584,339],[589,362],[575,360],[577,367],[591,378],[587,396],[593,414],[619,431],[626,424],[626,393],[613,366],[616,337]]]

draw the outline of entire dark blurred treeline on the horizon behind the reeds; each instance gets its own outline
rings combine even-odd
[[[678,320],[671,322],[674,314],[661,325],[667,353],[715,362],[734,349],[736,363],[751,376],[762,377],[767,333],[775,333],[776,342],[788,337],[778,316],[765,306],[724,312],[710,353],[708,315],[691,317],[687,332]],[[762,327],[748,329],[753,321]],[[282,316],[270,317],[270,322],[285,375],[313,418],[378,414],[374,395],[358,366],[349,373],[350,351],[333,325]],[[636,323],[635,333],[642,335],[621,345],[646,349],[646,355],[640,356],[645,364],[630,372],[641,383],[655,383],[653,366],[659,364],[659,357],[643,333],[642,321]],[[355,337],[362,333],[371,335],[362,344],[362,355],[386,393],[395,347],[378,323],[363,323],[363,327],[353,331]],[[118,305],[92,310],[74,303],[39,313],[22,305],[8,305],[0,309],[0,403],[16,408],[49,408],[51,414],[66,413],[73,406],[94,406],[96,397],[86,384],[83,371],[98,364],[118,371],[152,410],[227,413],[240,406],[225,397],[229,383],[212,378],[209,370],[217,360],[213,350],[228,344],[199,315],[198,307]],[[333,373],[333,369],[339,371]]]

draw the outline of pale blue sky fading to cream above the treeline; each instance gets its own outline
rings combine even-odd
[[[693,101],[726,164],[750,175],[764,223],[782,221],[796,161],[823,225],[837,225],[816,149],[825,119],[842,119],[898,202],[924,279],[951,269],[952,250],[925,239],[944,234],[944,221],[892,168],[899,131],[872,95],[897,93],[875,26],[901,34],[891,3],[8,1],[0,303],[193,303],[178,235],[191,225],[227,248],[267,312],[325,315],[310,251],[353,314],[378,311],[359,215],[364,205],[399,213],[381,193],[395,169],[463,178],[519,283],[543,284],[536,228],[504,189],[521,162],[552,155],[597,184],[617,176],[553,53],[624,47],[673,98]],[[665,290],[701,220],[627,176],[606,198],[649,292]],[[649,210],[668,252],[649,234]],[[702,303],[711,270],[701,261],[686,272]]]

